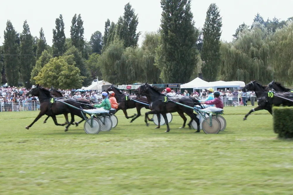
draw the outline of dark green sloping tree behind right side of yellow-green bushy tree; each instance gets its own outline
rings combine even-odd
[[[89,86],[92,82],[91,75],[86,68],[85,59],[82,57],[81,52],[75,47],[71,46],[66,52],[65,55],[74,55],[75,66],[79,68],[80,75],[85,77],[83,80],[83,86]]]

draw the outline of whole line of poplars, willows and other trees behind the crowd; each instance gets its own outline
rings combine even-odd
[[[52,47],[44,32],[30,34],[27,21],[18,33],[8,20],[0,48],[2,82],[27,88],[78,88],[97,77],[113,84],[134,82],[185,83],[202,74],[204,80],[293,80],[292,18],[264,20],[258,13],[251,25],[239,25],[234,40],[222,42],[222,17],[216,4],[207,9],[202,29],[195,27],[190,0],[161,0],[157,32],[137,42],[138,15],[128,3],[116,22],[105,21],[104,33],[84,39],[81,15],[74,15],[70,38],[65,37],[62,15],[56,18]]]

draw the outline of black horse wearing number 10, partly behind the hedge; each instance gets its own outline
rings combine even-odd
[[[248,83],[242,91],[255,91],[257,97],[258,107],[251,109],[243,118],[246,120],[248,115],[259,110],[267,110],[272,114],[272,105],[293,106],[293,94],[290,92],[272,92],[268,87],[262,86],[256,81]],[[292,99],[292,101],[290,101]]]

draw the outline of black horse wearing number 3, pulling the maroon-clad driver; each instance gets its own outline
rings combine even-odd
[[[166,113],[178,112],[184,121],[182,127],[185,127],[185,123],[186,123],[187,119],[184,116],[184,113],[186,113],[191,118],[190,122],[188,123],[189,128],[190,129],[192,128],[191,122],[192,122],[192,120],[195,120],[195,122],[197,123],[197,131],[196,132],[200,132],[200,121],[196,117],[196,114],[193,113],[195,99],[192,99],[189,96],[168,97],[168,96],[161,94],[161,92],[159,91],[158,88],[152,87],[147,83],[141,85],[137,89],[137,92],[139,94],[145,95],[147,97],[148,102],[150,103],[149,108],[151,109],[151,111],[145,113],[145,120],[144,120],[144,122],[146,122],[147,126],[149,125],[147,122],[147,116],[149,114],[162,114],[163,118],[166,122],[166,125],[167,125],[167,131],[165,131],[165,132],[169,132],[170,127],[168,124],[168,119],[167,119]],[[170,100],[168,101],[168,99],[170,99]],[[163,101],[165,101],[165,102],[163,102]],[[180,103],[181,105],[177,104],[176,102]],[[192,108],[185,107],[183,104],[186,106],[192,107]],[[161,117],[158,117],[159,124],[160,124],[160,119],[161,119]]]

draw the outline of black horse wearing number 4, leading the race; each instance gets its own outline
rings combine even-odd
[[[56,101],[54,103],[50,102],[50,99],[53,98],[53,96],[50,94],[50,91],[40,87],[39,84],[37,85],[37,87],[31,89],[26,96],[37,96],[39,98],[40,101],[40,113],[38,114],[38,116],[35,118],[35,120],[28,126],[26,126],[26,129],[29,129],[31,126],[33,126],[33,124],[38,121],[43,115],[48,115],[51,116],[55,125],[60,125],[60,126],[64,126],[66,125],[66,123],[64,124],[58,124],[57,123],[57,119],[56,119],[56,115],[60,115],[60,114],[64,114],[65,119],[67,121],[67,126],[65,127],[64,131],[68,131],[68,127],[73,124],[74,122],[74,115],[79,116],[80,118],[84,118],[83,114],[81,113],[81,111],[79,111],[76,108],[73,108],[71,106],[68,106],[65,103],[68,103],[74,107],[77,108],[82,108],[81,101],[77,101],[73,98],[69,98],[69,99],[59,99],[59,101]],[[63,101],[65,103],[62,103],[60,101]],[[88,106],[88,108],[93,108],[92,106]],[[68,122],[68,113],[71,114],[71,122]],[[87,117],[86,117],[87,118]]]

